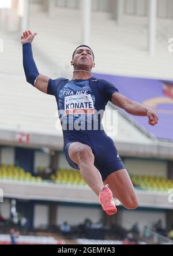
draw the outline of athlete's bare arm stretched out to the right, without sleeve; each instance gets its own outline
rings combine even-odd
[[[133,114],[134,116],[148,116],[148,123],[150,125],[157,124],[159,120],[156,113],[152,109],[145,107],[139,102],[131,101],[117,92],[112,94],[112,103],[126,110],[127,113]]]

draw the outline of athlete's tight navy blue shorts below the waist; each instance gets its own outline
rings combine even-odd
[[[95,156],[94,165],[99,170],[103,181],[116,170],[125,169],[113,140],[104,131],[85,131],[82,133],[78,131],[76,134],[74,133],[74,136],[71,136],[70,140],[65,140],[64,151],[67,162],[72,168],[79,169],[77,164],[70,159],[68,153],[69,146],[73,142],[81,142],[91,147]]]

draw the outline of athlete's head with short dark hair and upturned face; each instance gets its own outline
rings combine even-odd
[[[95,67],[92,51],[88,47],[78,48],[74,54],[71,64],[74,66],[74,69],[85,69],[86,71],[91,71],[92,68]]]

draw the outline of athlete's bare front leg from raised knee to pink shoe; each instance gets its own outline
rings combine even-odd
[[[69,157],[80,168],[80,173],[85,182],[99,196],[99,192],[103,187],[103,181],[99,170],[94,165],[95,157],[91,147],[80,142],[73,142],[69,146]]]

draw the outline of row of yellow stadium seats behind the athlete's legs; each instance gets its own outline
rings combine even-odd
[[[42,168],[44,169],[44,168]],[[43,171],[43,170],[42,170]],[[168,191],[173,187],[173,180],[163,176],[130,175],[134,187],[141,190]],[[43,182],[42,177],[32,176],[30,172],[14,165],[2,165],[0,167],[0,179]],[[50,176],[51,182],[65,185],[86,185],[78,170],[58,169]],[[47,180],[46,180],[47,181]]]

